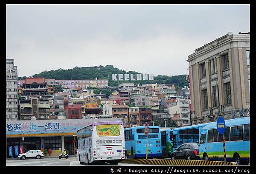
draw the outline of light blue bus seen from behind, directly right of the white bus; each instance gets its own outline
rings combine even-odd
[[[146,157],[145,126],[130,127],[125,129],[125,157]],[[148,126],[148,158],[160,157],[161,132],[159,126]]]

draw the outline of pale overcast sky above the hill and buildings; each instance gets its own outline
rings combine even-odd
[[[6,5],[6,58],[18,76],[98,65],[172,76],[239,31],[250,31],[250,5]]]

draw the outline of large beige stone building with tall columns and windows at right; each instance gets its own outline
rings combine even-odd
[[[226,34],[188,56],[192,124],[247,115],[250,33]],[[237,113],[237,115],[236,115]]]

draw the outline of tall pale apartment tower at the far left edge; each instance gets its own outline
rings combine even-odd
[[[17,66],[14,59],[6,59],[6,120],[18,120]]]

